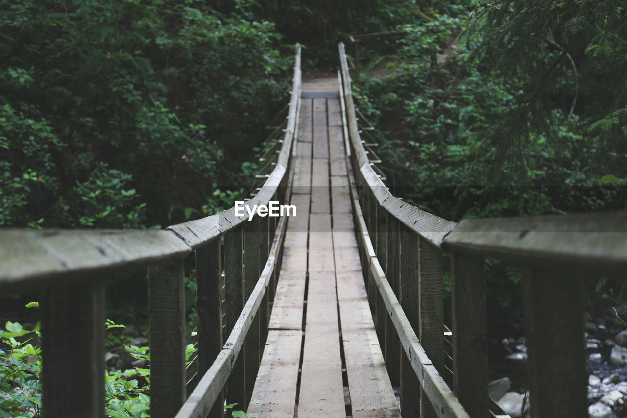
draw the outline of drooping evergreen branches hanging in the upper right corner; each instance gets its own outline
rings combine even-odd
[[[589,169],[595,176],[626,174],[620,154],[627,153],[627,27],[621,1],[510,1],[482,3],[463,41],[469,62],[482,67],[505,88],[515,87],[508,117],[496,121],[483,140],[498,148],[490,158],[524,161],[524,148],[542,136],[564,146],[556,135],[556,109],[575,114],[594,147]],[[515,153],[510,150],[515,149]]]

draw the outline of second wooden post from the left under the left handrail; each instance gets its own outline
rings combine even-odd
[[[186,397],[183,260],[148,269],[150,416],[171,418]]]

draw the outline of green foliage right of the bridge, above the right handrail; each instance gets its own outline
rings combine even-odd
[[[406,37],[396,56],[387,58],[393,63],[387,76],[362,80],[359,109],[394,138],[377,137],[376,151],[393,193],[456,221],[624,209],[627,166],[608,164],[626,154],[624,132],[617,129],[624,117],[624,97],[618,96],[624,95],[604,83],[622,83],[617,65],[624,62],[624,43],[607,40],[616,45],[603,53],[614,55],[599,58],[599,51],[594,58],[597,49],[584,52],[589,33],[578,33],[571,43],[556,35],[534,38],[537,33],[527,32],[540,24],[562,24],[553,21],[557,12],[514,3],[427,10],[431,21],[401,26]],[[606,29],[623,31],[613,19]],[[589,24],[598,27],[601,21]],[[576,62],[576,75],[566,52]],[[591,58],[605,67],[594,67]],[[614,135],[613,148],[603,132]],[[511,308],[519,301],[520,269],[499,260],[488,264],[490,300]],[[448,280],[445,275],[447,291]]]

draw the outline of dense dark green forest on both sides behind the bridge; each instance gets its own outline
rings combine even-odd
[[[24,0],[0,3],[0,226],[160,228],[231,206],[293,45],[305,74],[334,71],[339,41],[379,31],[401,36],[362,43],[354,94],[395,195],[455,221],[624,210],[623,1]],[[508,321],[520,271],[488,262]],[[143,277],[122,279],[108,316],[139,335]]]

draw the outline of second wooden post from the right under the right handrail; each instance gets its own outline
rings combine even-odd
[[[453,392],[471,417],[488,414],[485,259],[451,252]]]

